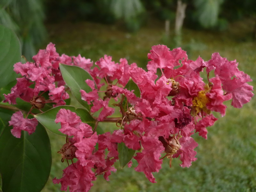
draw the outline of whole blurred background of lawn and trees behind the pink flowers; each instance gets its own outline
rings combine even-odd
[[[52,42],[60,54],[93,61],[107,54],[146,69],[151,46],[165,44],[181,46],[191,60],[199,55],[209,60],[213,52],[236,59],[251,76],[249,84],[256,85],[255,0],[0,0],[0,23],[16,32],[28,60]],[[117,162],[110,181],[97,176],[91,191],[256,191],[255,98],[242,109],[226,105],[225,117],[215,114],[219,120],[208,128],[208,140],[194,134],[198,159],[190,168],[181,168],[179,159],[169,168],[164,160],[152,184],[133,170],[136,161],[124,169]],[[111,123],[101,127],[115,128]],[[53,162],[42,191],[57,192],[60,185],[52,179],[67,166],[57,154],[65,138],[48,133]]]

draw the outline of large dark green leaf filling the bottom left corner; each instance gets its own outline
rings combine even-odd
[[[46,130],[38,124],[15,138],[6,126],[0,136],[0,172],[4,192],[39,192],[49,178],[52,155]]]

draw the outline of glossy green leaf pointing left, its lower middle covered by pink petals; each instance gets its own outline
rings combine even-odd
[[[61,128],[60,123],[55,123],[56,115],[60,109],[69,109],[70,111],[75,112],[78,116],[81,117],[82,122],[89,124],[90,126],[92,126],[92,128],[94,127],[95,120],[86,109],[75,108],[68,105],[61,105],[52,108],[48,111],[45,111],[44,113],[35,115],[35,117],[42,125],[44,125],[45,128],[47,128],[51,132],[58,135],[64,135],[59,131],[59,129]]]

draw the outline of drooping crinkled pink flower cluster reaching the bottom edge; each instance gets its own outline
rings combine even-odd
[[[96,180],[95,175],[104,174],[104,178],[108,180],[110,171],[116,171],[112,165],[118,159],[117,144],[109,140],[110,133],[93,133],[91,126],[82,123],[76,113],[66,109],[60,109],[55,122],[60,122],[60,132],[73,136],[70,139],[70,147],[76,147],[75,155],[78,160],[63,170],[61,179],[53,179],[53,183],[60,182],[61,190],[67,190],[69,186],[69,191],[75,192],[89,191],[93,185],[92,181]],[[98,150],[94,147],[96,143]],[[109,151],[107,158],[105,149]],[[92,168],[95,172],[92,172]]]

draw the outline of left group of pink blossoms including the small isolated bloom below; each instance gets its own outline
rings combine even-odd
[[[45,103],[55,103],[53,107],[65,105],[66,102],[64,100],[68,99],[69,95],[65,91],[65,82],[60,73],[59,63],[76,65],[85,69],[92,67],[90,59],[85,59],[81,55],[68,57],[63,54],[60,56],[52,43],[48,44],[45,50],[39,50],[32,59],[34,62],[26,62],[24,64],[18,62],[14,64],[14,71],[22,77],[17,78],[17,84],[12,87],[11,93],[4,94],[4,102],[16,104],[16,98],[21,98],[30,102],[33,108],[40,110]],[[49,95],[48,100],[45,100],[42,96],[45,92]],[[23,118],[21,112],[13,114],[9,123],[13,125],[12,134],[15,137],[20,138],[22,130],[28,131],[25,127],[30,127],[28,134],[35,132],[36,118],[27,119],[27,117]],[[15,123],[15,119],[19,119],[21,123]],[[29,122],[34,123],[31,124]]]

